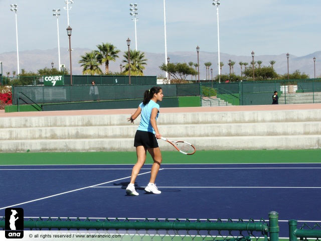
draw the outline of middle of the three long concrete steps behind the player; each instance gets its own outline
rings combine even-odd
[[[137,125],[0,129],[0,141],[133,138]],[[158,125],[165,137],[232,137],[321,135],[320,122]]]

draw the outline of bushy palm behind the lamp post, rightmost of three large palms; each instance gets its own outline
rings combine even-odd
[[[123,57],[124,60],[122,62],[125,63],[125,70],[123,72],[128,74],[128,51],[124,53]],[[143,76],[144,65],[147,64],[146,61],[144,52],[130,50],[130,74]]]

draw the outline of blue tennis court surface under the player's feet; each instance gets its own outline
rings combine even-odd
[[[321,164],[163,164],[160,195],[143,190],[150,167],[136,179],[139,196],[128,196],[132,165],[0,166],[0,216],[16,206],[26,217],[268,220],[274,210],[280,237],[288,219],[320,220]]]

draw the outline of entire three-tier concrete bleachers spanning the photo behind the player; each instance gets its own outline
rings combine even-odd
[[[129,115],[4,117],[0,152],[135,151],[139,124]],[[164,137],[184,140],[197,150],[321,148],[321,109],[162,113]],[[173,150],[158,141],[162,150]]]

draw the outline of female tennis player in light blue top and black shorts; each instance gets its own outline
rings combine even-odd
[[[144,93],[144,100],[139,104],[135,113],[130,116],[128,122],[134,123],[134,119],[140,116],[140,124],[135,134],[134,147],[136,147],[137,163],[132,168],[130,183],[126,188],[126,193],[132,196],[138,196],[135,190],[135,180],[140,171],[140,168],[146,161],[146,151],[149,152],[154,163],[151,166],[150,180],[145,187],[146,192],[160,194],[155,184],[155,179],[162,163],[161,150],[158,147],[157,139],[161,139],[159,134],[156,119],[159,114],[159,104],[157,101],[163,100],[163,90],[161,87],[152,87]]]

